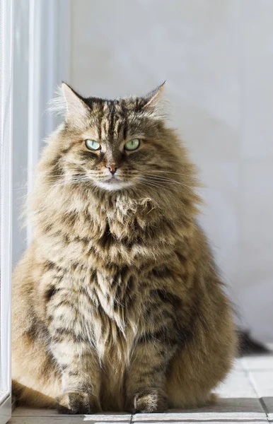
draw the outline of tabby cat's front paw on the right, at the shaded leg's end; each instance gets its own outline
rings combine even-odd
[[[128,409],[132,413],[164,412],[168,409],[167,397],[158,389],[144,389],[134,394]]]

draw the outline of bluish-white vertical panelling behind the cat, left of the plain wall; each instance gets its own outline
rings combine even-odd
[[[20,220],[43,139],[57,125],[47,102],[69,76],[69,1],[18,0],[14,8],[13,265],[30,242]]]

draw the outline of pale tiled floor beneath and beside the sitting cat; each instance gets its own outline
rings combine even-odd
[[[273,423],[273,353],[236,360],[226,382],[217,390],[216,405],[160,414],[127,413],[60,416],[56,411],[16,408],[9,424],[266,424]]]

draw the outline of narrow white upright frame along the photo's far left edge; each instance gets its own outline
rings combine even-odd
[[[11,417],[13,2],[0,0],[0,424]]]

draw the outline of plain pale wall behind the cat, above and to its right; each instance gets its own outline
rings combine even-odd
[[[71,84],[143,95],[165,79],[207,189],[202,223],[243,322],[273,340],[273,1],[71,0]]]

